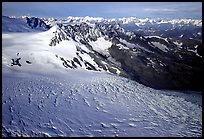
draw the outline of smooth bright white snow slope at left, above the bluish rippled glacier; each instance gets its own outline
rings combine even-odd
[[[64,70],[62,61],[59,57],[72,60],[77,57],[77,46],[87,51],[87,48],[73,39],[63,40],[56,46],[49,46],[53,32],[57,31],[57,27],[53,26],[50,30],[40,33],[3,33],[2,34],[2,62],[5,66],[11,65],[12,58],[20,57],[22,67],[13,67],[15,70],[24,71],[44,71],[52,69]],[[86,49],[85,49],[86,48]],[[17,56],[17,53],[19,55]],[[58,58],[56,57],[58,56]],[[81,54],[83,60],[95,65],[93,59],[87,54]],[[32,65],[28,65],[25,61],[31,61]],[[85,66],[79,67],[85,69]]]

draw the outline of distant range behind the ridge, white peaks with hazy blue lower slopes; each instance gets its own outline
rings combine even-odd
[[[202,20],[196,19],[139,19],[129,18],[93,18],[72,17],[60,21],[64,23],[117,23],[126,30],[135,31],[141,35],[152,35],[171,38],[195,38],[202,39]]]

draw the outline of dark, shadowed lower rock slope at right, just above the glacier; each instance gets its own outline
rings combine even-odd
[[[154,59],[154,67],[148,65],[145,55],[138,55],[127,50],[120,50],[113,45],[110,54],[121,62],[122,68],[130,77],[140,83],[157,89],[202,89],[202,82],[199,76],[202,75],[201,61],[197,65],[177,62],[170,58],[163,58],[158,55],[149,55]],[[165,66],[161,66],[162,60]]]

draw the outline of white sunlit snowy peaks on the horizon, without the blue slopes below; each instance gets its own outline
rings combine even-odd
[[[158,28],[163,25],[171,25],[173,27],[181,26],[197,26],[202,27],[202,20],[198,19],[139,19],[136,17],[129,18],[100,18],[100,17],[73,17],[69,16],[67,19],[62,20],[64,23],[81,23],[81,22],[90,22],[90,23],[119,23],[119,24],[135,24],[138,27],[149,28],[157,26]],[[148,27],[149,26],[149,27]],[[164,28],[164,26],[163,26]]]

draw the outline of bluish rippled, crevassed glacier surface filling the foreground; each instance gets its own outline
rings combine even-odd
[[[201,103],[185,97],[87,71],[19,75],[3,75],[3,136],[202,136]]]

